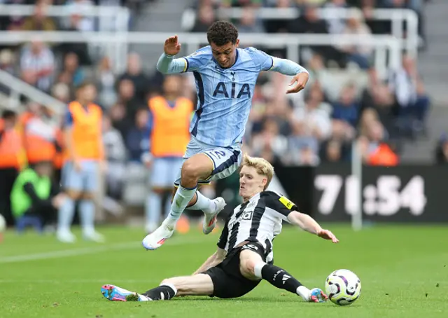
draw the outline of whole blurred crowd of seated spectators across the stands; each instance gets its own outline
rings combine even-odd
[[[55,1],[54,4],[60,4]],[[2,29],[77,29],[91,30],[97,26],[83,17],[76,6],[120,4],[132,6],[138,1],[70,0],[64,1],[73,15],[55,20],[45,15],[49,1],[38,1],[34,15],[23,18],[3,17]],[[377,34],[390,32],[390,25],[370,20],[372,8],[412,8],[421,13],[423,0],[225,0],[198,1],[195,23],[190,31],[205,32],[218,19],[218,8],[244,8],[241,20],[233,21],[240,32],[300,32],[329,34]],[[22,1],[3,1],[22,4]],[[297,20],[258,20],[253,8],[299,7],[304,15]],[[361,15],[349,20],[322,20],[316,8],[358,6]],[[17,18],[17,19],[16,19]],[[421,36],[423,35],[420,23]],[[205,39],[204,39],[205,40]],[[247,44],[247,43],[246,43]],[[260,49],[265,49],[260,47]],[[162,50],[162,48],[161,48]],[[244,151],[266,158],[276,165],[318,165],[351,160],[353,141],[365,163],[397,165],[400,146],[405,139],[418,138],[426,132],[425,119],[430,108],[421,76],[412,57],[403,55],[402,67],[380,78],[372,67],[372,48],[366,46],[325,46],[302,48],[306,54],[300,64],[310,72],[307,89],[286,96],[289,78],[273,72],[263,72],[253,95]],[[277,57],[286,57],[282,50],[267,50]],[[104,144],[109,167],[108,191],[120,200],[129,163],[144,164],[145,153],[151,147],[148,99],[164,94],[171,88],[154,69],[145,70],[141,56],[130,53],[122,74],[113,70],[113,61],[105,55],[92,58],[86,44],[50,45],[36,39],[19,47],[3,47],[0,69],[68,103],[74,88],[90,80],[97,85],[97,103],[104,110]],[[337,81],[335,74],[350,74],[349,80]],[[354,74],[354,75],[353,75]],[[341,85],[342,83],[342,85]],[[340,86],[335,89],[335,86]],[[177,94],[196,103],[195,80],[191,74],[179,77]],[[8,88],[0,85],[0,92]],[[27,112],[41,116],[58,127],[62,118],[55,116],[48,105],[38,105],[21,99]],[[50,119],[52,118],[52,119]],[[20,122],[20,120],[19,120]],[[444,139],[447,140],[447,139]],[[447,145],[445,143],[444,145]],[[447,146],[440,147],[440,156],[448,158]],[[441,158],[442,158],[441,157]]]

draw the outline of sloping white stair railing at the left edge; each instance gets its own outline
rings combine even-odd
[[[20,106],[20,95],[25,95],[28,99],[48,106],[52,111],[56,113],[62,113],[65,109],[65,104],[59,102],[59,100],[51,97],[45,92],[34,88],[34,86],[25,83],[19,78],[9,74],[6,71],[0,69],[0,83],[10,89],[10,96],[8,105],[9,109],[18,109]]]

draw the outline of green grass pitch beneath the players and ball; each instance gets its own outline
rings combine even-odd
[[[0,317],[448,317],[446,227],[330,229],[339,244],[284,228],[275,240],[275,263],[310,288],[323,288],[332,270],[353,270],[363,292],[347,307],[304,303],[267,282],[237,300],[115,303],[102,296],[102,284],[143,292],[165,277],[190,275],[214,252],[218,234],[176,235],[145,251],[143,231],[129,228],[100,228],[106,244],[64,245],[52,236],[8,232],[0,244]]]

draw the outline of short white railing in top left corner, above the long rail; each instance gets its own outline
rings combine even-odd
[[[0,16],[29,16],[33,15],[36,6],[32,5],[21,5],[21,4],[0,4]],[[66,6],[45,6],[45,15],[49,17],[57,17],[64,18],[72,15],[73,12],[69,11]],[[120,33],[122,36],[125,36],[127,31],[129,30],[129,22],[130,22],[130,10],[121,6],[92,6],[89,10],[83,10],[81,15],[98,18],[98,29],[99,32],[111,32],[111,30],[106,30],[106,25],[109,25],[109,22],[106,20],[113,21],[113,31]],[[38,35],[38,34],[37,34]],[[29,40],[28,40],[29,41]],[[127,51],[125,48],[120,47],[120,43],[101,43],[99,46],[95,42],[90,42],[90,45],[95,47],[100,47],[102,50],[106,51],[108,55],[120,55],[120,58],[116,60],[116,64],[114,67],[118,71],[123,71],[126,67],[126,55]],[[126,47],[127,48],[127,47]]]

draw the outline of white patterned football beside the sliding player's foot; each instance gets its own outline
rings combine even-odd
[[[361,282],[351,270],[335,270],[325,280],[325,291],[333,303],[346,306],[359,298]]]

